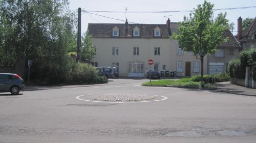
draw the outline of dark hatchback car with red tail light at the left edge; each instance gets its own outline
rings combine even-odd
[[[13,73],[0,73],[0,92],[11,92],[18,94],[24,91],[25,85],[22,77]]]

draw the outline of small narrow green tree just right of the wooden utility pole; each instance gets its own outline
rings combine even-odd
[[[91,62],[96,55],[96,47],[93,46],[92,36],[89,32],[83,33],[81,37],[81,60],[82,62]]]

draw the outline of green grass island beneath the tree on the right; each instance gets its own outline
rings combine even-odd
[[[193,88],[199,89],[201,87],[201,82],[191,81],[190,78],[182,78],[178,80],[173,79],[161,79],[154,80],[150,82],[144,82],[142,85],[154,85],[154,86],[163,86],[163,87],[179,87],[179,88]],[[205,88],[210,88],[211,84],[204,84]]]

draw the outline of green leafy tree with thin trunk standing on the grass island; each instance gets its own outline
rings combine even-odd
[[[214,5],[207,1],[204,1],[203,5],[198,5],[189,17],[184,17],[184,20],[179,22],[177,33],[170,37],[178,40],[184,51],[193,52],[201,61],[201,82],[204,75],[204,57],[216,52],[217,46],[227,40],[222,38],[222,34],[228,29],[226,13],[220,13],[214,19],[213,7]]]

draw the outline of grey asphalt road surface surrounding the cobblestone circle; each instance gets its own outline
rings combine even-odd
[[[143,81],[0,93],[0,142],[255,142],[256,97],[142,87]],[[84,101],[106,94],[160,101]]]

